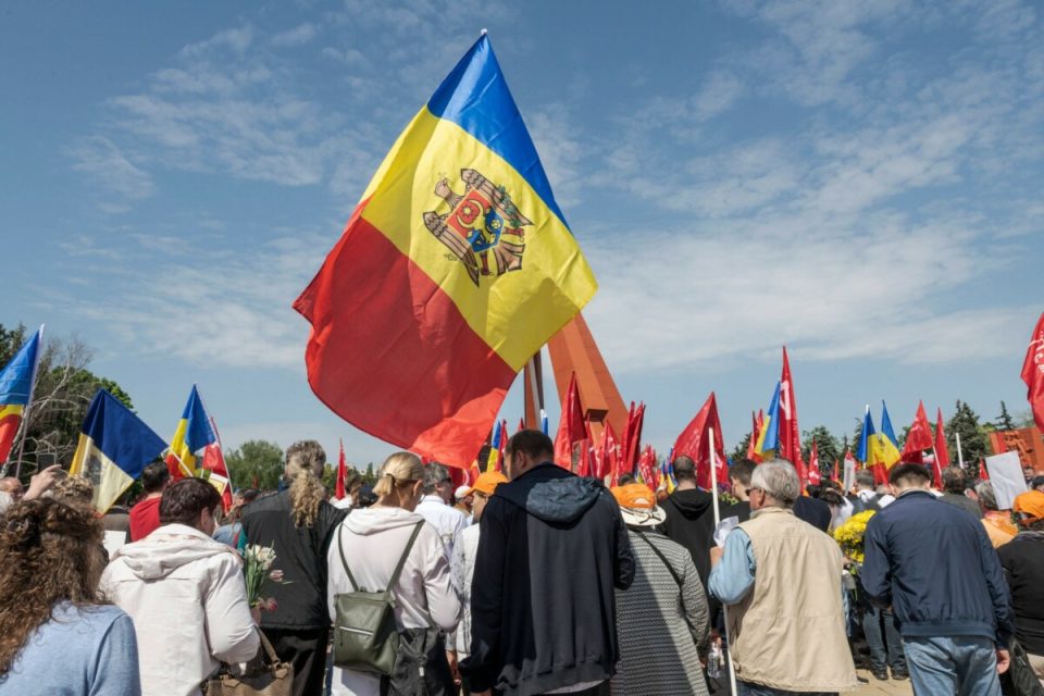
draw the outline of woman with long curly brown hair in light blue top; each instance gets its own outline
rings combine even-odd
[[[140,696],[130,618],[100,604],[101,522],[24,500],[0,525],[0,694]]]

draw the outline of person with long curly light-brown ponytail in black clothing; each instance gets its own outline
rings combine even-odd
[[[261,627],[279,659],[294,663],[294,696],[321,693],[326,664],[326,548],[346,511],[326,501],[325,467],[319,443],[294,443],[283,471],[288,488],[243,511],[248,543],[272,546],[286,581],[272,585],[276,608],[262,614]]]

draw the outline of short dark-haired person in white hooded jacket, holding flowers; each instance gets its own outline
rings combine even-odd
[[[211,538],[221,496],[201,478],[163,493],[160,527],[113,554],[100,589],[130,614],[142,696],[198,696],[220,662],[246,662],[260,638],[239,556]]]

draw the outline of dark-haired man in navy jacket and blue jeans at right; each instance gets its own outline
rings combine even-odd
[[[921,464],[888,481],[896,499],[867,525],[862,586],[895,613],[915,693],[1000,696],[1011,609],[982,524],[929,493]]]

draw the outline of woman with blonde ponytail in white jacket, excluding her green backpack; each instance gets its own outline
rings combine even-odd
[[[413,530],[422,522],[393,588],[395,621],[400,631],[434,624],[448,633],[457,626],[460,598],[450,580],[443,539],[432,524],[413,511],[421,499],[423,478],[420,458],[410,452],[391,455],[382,465],[381,477],[373,488],[377,502],[352,510],[334,532],[326,556],[332,621],[336,619],[334,597],[356,589],[345,572],[341,551],[359,587],[380,592],[388,586]],[[376,696],[381,693],[381,680],[373,674],[335,667],[331,693],[333,696]]]

